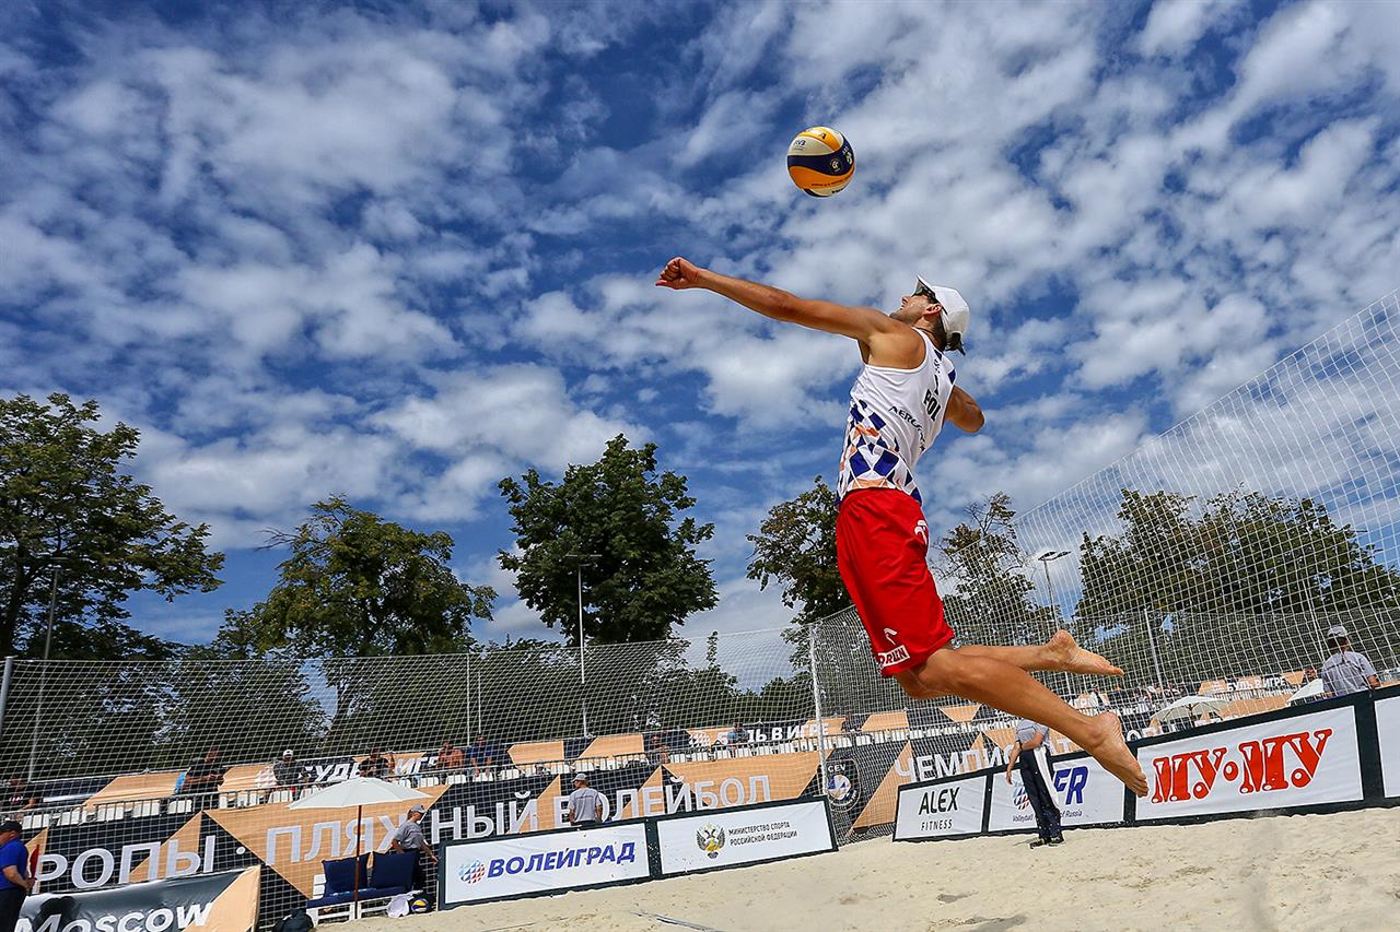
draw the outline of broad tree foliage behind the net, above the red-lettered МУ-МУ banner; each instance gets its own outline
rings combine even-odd
[[[1331,621],[1400,610],[1400,574],[1322,504],[1243,490],[1196,501],[1123,490],[1123,530],[1079,546],[1077,614],[1130,676],[1156,679],[1154,648],[1169,680],[1312,666]]]

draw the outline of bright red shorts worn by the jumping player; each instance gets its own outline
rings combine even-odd
[[[883,676],[911,670],[953,640],[928,572],[928,523],[897,488],[862,488],[841,500],[836,561]]]

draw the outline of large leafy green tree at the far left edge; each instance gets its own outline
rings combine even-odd
[[[52,656],[161,658],[171,647],[125,623],[133,592],[211,592],[224,556],[209,526],[165,511],[123,472],[140,432],[99,431],[97,402],[0,399],[0,656],[39,656],[57,570]]]

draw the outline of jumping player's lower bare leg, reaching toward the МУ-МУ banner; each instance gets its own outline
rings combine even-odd
[[[944,648],[920,666],[896,673],[895,679],[914,698],[960,696],[1049,725],[1088,751],[1134,793],[1147,795],[1147,777],[1123,740],[1123,722],[1117,715],[1081,715],[1014,663],[969,654],[967,648]]]

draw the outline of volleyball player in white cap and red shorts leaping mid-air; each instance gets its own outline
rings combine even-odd
[[[913,698],[960,696],[1049,725],[1134,793],[1147,795],[1147,778],[1123,740],[1119,716],[1082,715],[1028,673],[1121,676],[1121,669],[1077,645],[1068,631],[1033,647],[949,647],[953,631],[928,572],[928,523],[913,470],[945,420],[967,432],[983,425],[977,402],[953,385],[956,374],[946,355],[962,351],[967,330],[962,295],[918,278],[899,309],[883,313],[798,298],[679,256],[666,263],[657,285],[706,288],[774,320],[839,333],[860,344],[865,367],[851,388],[837,481],[836,554],[881,673],[895,677]]]

